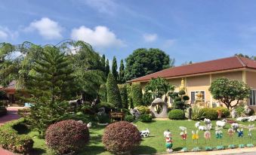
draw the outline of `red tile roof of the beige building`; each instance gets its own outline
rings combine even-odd
[[[148,74],[146,76],[135,78],[128,82],[139,82],[139,81],[149,81],[151,78],[174,78],[182,77],[191,74],[203,74],[214,71],[227,71],[239,68],[252,68],[256,69],[256,61],[240,57],[232,56],[223,59],[215,59],[207,62],[198,62],[191,65],[182,65],[174,68],[168,68],[162,71],[158,71],[153,74]]]

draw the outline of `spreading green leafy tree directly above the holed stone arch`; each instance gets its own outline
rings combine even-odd
[[[173,92],[174,88],[175,86],[173,84],[169,84],[164,78],[152,78],[146,85],[145,92],[151,93],[153,99],[162,99],[162,96],[165,96],[165,102],[167,102],[167,95],[168,93]]]

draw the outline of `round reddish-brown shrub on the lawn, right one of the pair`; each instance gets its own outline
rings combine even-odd
[[[140,132],[127,121],[119,121],[106,126],[103,138],[106,150],[114,153],[129,152],[140,144]]]

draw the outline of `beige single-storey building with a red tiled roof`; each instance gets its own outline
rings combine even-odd
[[[207,62],[198,62],[190,65],[182,65],[174,68],[168,68],[153,74],[135,78],[129,83],[139,82],[145,87],[152,78],[165,78],[179,90],[180,84],[186,87],[187,95],[190,96],[190,104],[198,99],[203,103],[207,103],[209,107],[224,105],[219,101],[215,101],[209,92],[211,82],[217,78],[230,78],[243,81],[251,87],[251,98],[247,104],[250,108],[256,110],[256,61],[240,56],[232,56],[224,59],[215,59]],[[172,99],[168,99],[171,104]]]

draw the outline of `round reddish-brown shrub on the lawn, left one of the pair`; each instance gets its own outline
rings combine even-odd
[[[88,143],[89,130],[85,123],[63,120],[48,127],[45,141],[48,147],[57,153],[76,153]]]

